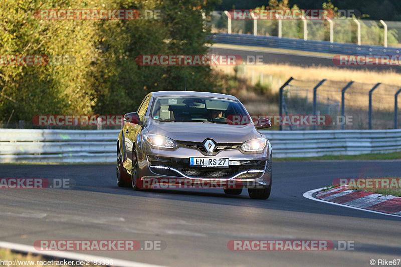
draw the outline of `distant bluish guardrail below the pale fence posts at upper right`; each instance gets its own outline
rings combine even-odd
[[[279,38],[276,36],[254,36],[250,34],[213,34],[219,44],[282,48],[300,51],[321,52],[338,55],[399,55],[401,48],[383,46],[358,46],[357,44],[330,43],[329,41]]]

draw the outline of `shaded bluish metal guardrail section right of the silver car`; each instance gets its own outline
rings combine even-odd
[[[401,130],[262,131],[273,157],[359,155],[401,151]]]

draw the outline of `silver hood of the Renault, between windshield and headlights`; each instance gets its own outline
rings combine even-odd
[[[228,125],[202,122],[151,123],[149,133],[159,134],[176,141],[203,142],[213,139],[217,143],[243,143],[262,135],[253,125]]]

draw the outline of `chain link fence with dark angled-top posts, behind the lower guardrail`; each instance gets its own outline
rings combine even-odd
[[[397,129],[401,86],[290,78],[280,88],[280,115],[328,115],[332,123],[281,130]],[[396,99],[398,101],[396,101]]]

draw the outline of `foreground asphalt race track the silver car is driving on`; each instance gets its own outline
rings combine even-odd
[[[162,240],[160,251],[85,253],[167,266],[370,266],[401,258],[401,218],[306,199],[334,178],[400,176],[400,161],[274,162],[268,200],[246,190],[133,191],[114,164],[0,165],[1,178],[69,178],[70,189],[1,189],[0,240]],[[229,240],[352,240],[349,251],[231,251]],[[79,252],[79,251],[78,251]]]

